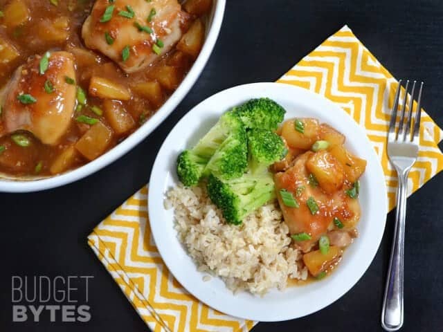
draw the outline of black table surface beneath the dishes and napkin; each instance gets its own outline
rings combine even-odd
[[[0,331],[147,331],[87,246],[87,235],[147,183],[157,151],[197,103],[230,86],[271,82],[347,24],[397,78],[423,80],[424,107],[443,125],[442,1],[228,0],[213,54],[188,96],[149,137],[81,181],[30,194],[0,194]],[[442,331],[442,174],[408,199],[403,331]],[[381,331],[380,313],[393,231],[368,271],[341,299],[298,320],[260,323],[260,331]],[[91,275],[87,323],[12,322],[12,275]],[[84,286],[82,286],[84,287]],[[84,291],[80,287],[80,291]]]

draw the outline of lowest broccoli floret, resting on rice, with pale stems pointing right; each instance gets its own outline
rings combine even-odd
[[[246,173],[240,178],[223,181],[210,174],[208,195],[223,213],[226,222],[239,225],[245,216],[260,208],[264,203],[275,199],[272,174]]]

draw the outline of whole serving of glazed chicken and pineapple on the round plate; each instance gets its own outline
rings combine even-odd
[[[273,165],[278,202],[293,246],[305,253],[309,273],[322,277],[357,235],[366,161],[343,147],[345,136],[316,119],[288,120],[278,133],[289,148]]]

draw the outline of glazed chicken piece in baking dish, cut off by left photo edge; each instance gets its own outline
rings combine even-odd
[[[30,57],[17,68],[1,93],[0,136],[26,130],[44,144],[55,145],[71,124],[76,93],[71,81],[75,80],[74,57],[68,52],[50,53],[44,73],[40,73],[41,59],[40,55]]]

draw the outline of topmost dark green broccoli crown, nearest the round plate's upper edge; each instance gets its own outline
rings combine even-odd
[[[251,99],[244,104],[234,107],[247,129],[260,128],[275,130],[283,121],[286,111],[269,98]]]

